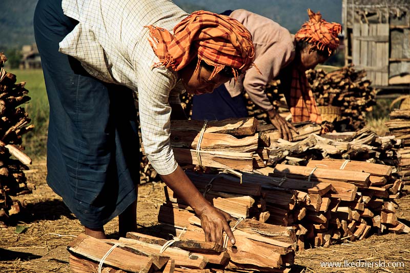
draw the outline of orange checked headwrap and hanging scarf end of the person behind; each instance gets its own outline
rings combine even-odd
[[[327,50],[330,56],[339,46],[337,35],[342,31],[341,25],[324,21],[320,12],[314,13],[308,9],[308,14],[309,21],[304,23],[296,33],[296,40],[305,40],[312,43],[321,51]],[[290,92],[292,122],[309,120],[316,123],[322,122],[305,71],[300,71],[296,67],[293,68]]]

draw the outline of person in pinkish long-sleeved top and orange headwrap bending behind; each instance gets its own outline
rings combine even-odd
[[[287,29],[269,18],[238,9],[226,11],[241,22],[252,34],[255,45],[255,64],[260,73],[250,70],[238,82],[228,82],[212,94],[194,96],[192,119],[223,120],[248,116],[242,91],[268,113],[271,123],[282,138],[293,140],[291,130],[296,128],[275,110],[265,93],[266,85],[278,78],[282,92],[292,113],[292,122],[312,121],[321,123],[312,90],[305,71],[325,62],[339,46],[341,25],[328,23],[320,12],[308,9],[309,21],[292,35]]]

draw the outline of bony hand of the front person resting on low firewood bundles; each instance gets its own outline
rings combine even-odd
[[[228,221],[232,220],[233,217],[229,213],[210,205],[202,211],[199,218],[201,219],[201,227],[205,232],[205,240],[207,242],[216,242],[222,245],[222,231],[225,231],[231,244],[235,244],[234,234],[228,224]]]

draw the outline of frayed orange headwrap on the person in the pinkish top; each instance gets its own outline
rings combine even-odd
[[[308,9],[309,21],[304,23],[301,29],[296,32],[297,41],[305,40],[313,43],[317,49],[324,51],[327,49],[329,56],[339,46],[337,35],[342,31],[342,26],[338,23],[329,23],[322,19],[320,12],[314,13]]]

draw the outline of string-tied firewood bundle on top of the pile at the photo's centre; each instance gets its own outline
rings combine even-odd
[[[252,171],[265,166],[258,147],[269,145],[254,118],[171,121],[171,146],[179,164]]]

